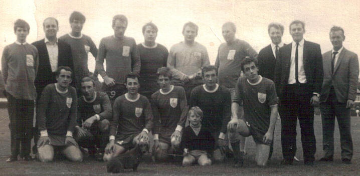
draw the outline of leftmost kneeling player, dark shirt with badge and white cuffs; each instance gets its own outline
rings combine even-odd
[[[73,138],[77,95],[75,88],[69,86],[72,74],[71,68],[60,66],[57,83],[47,85],[40,98],[36,120],[40,130],[37,157],[41,162],[52,161],[54,150],[69,160],[82,161],[82,153]]]

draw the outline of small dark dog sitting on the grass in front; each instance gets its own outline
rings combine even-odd
[[[119,173],[123,172],[124,169],[137,170],[137,166],[140,163],[141,156],[148,151],[148,144],[139,142],[134,148],[120,154],[107,163],[107,172]]]

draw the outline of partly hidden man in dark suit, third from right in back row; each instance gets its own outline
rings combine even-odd
[[[268,34],[271,44],[259,52],[259,75],[274,80],[276,57],[279,55],[279,49],[284,46],[284,43],[281,41],[281,37],[284,34],[284,26],[278,23],[270,23]]]

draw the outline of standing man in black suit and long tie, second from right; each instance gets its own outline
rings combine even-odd
[[[275,68],[276,91],[280,99],[281,145],[285,165],[291,165],[296,153],[296,123],[299,119],[304,163],[314,164],[316,140],[314,105],[319,103],[322,84],[320,45],[305,41],[305,24],[290,24],[292,43],[279,50]]]

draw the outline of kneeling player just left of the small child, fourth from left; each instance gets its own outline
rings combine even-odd
[[[182,130],[188,113],[188,102],[183,87],[171,85],[171,71],[168,67],[157,70],[160,89],[151,95],[154,115],[154,146],[156,160],[166,160],[168,154],[176,152],[181,143]]]

